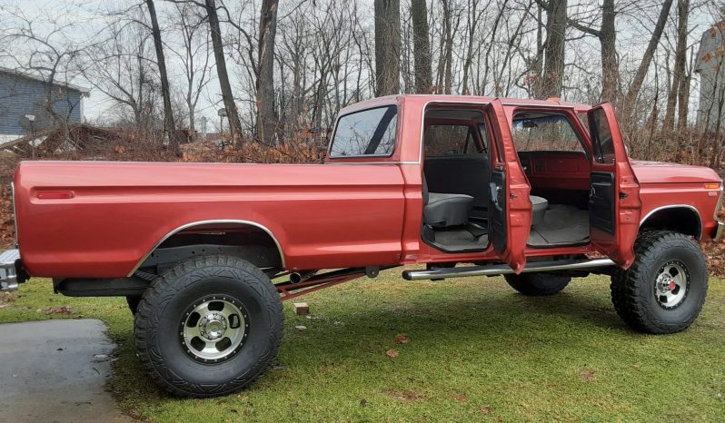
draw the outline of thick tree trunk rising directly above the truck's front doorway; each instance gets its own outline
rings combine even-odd
[[[541,77],[541,98],[561,97],[564,81],[564,44],[567,0],[551,0],[546,11],[546,50]]]

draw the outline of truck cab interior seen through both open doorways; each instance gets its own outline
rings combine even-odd
[[[511,135],[531,184],[529,247],[589,243],[591,166],[567,115],[516,113]],[[426,110],[422,239],[438,250],[484,251],[489,245],[490,136],[478,110]]]

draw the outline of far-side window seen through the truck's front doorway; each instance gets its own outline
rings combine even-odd
[[[511,135],[519,152],[583,151],[569,119],[561,114],[514,117]]]

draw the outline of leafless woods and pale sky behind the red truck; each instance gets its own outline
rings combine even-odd
[[[609,101],[634,157],[722,161],[725,87],[702,111],[698,74],[725,57],[698,53],[725,40],[721,0],[24,3],[0,5],[0,63],[107,99],[91,123],[121,128],[115,152],[207,131],[234,160],[314,161],[349,103],[453,93]]]

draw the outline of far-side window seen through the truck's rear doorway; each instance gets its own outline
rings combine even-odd
[[[423,148],[426,156],[483,153],[475,126],[429,125],[425,128]]]

